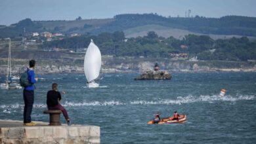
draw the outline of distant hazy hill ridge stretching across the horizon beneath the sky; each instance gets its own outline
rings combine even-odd
[[[240,35],[256,37],[256,18],[246,16],[223,16],[222,18],[166,18],[157,14],[119,14],[114,18],[91,20],[56,20],[56,21],[32,21],[29,18],[21,20],[11,26],[0,27],[1,37],[18,37],[27,32],[62,32],[91,33],[98,35],[102,32],[125,31],[125,35],[131,37],[136,32],[133,29],[144,31],[178,29],[188,33],[200,33],[205,35]],[[149,28],[149,29],[147,29]],[[161,32],[162,33],[162,32]],[[158,33],[161,35],[161,33]],[[169,35],[165,33],[163,35]],[[136,34],[135,34],[136,36]],[[170,35],[169,35],[170,36]]]

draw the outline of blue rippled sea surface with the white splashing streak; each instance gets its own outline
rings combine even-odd
[[[72,123],[100,126],[101,143],[256,143],[256,73],[172,75],[171,81],[134,81],[138,73],[102,74],[100,88],[90,89],[82,74],[38,75],[32,119],[49,120],[46,94],[57,82]],[[22,90],[0,90],[0,97],[1,119],[22,120]],[[146,124],[158,111],[162,118],[178,111],[187,120]]]

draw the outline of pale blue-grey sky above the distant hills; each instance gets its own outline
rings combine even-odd
[[[117,14],[157,13],[161,16],[220,18],[227,15],[256,17],[256,0],[0,0],[0,25],[32,20],[113,18]]]

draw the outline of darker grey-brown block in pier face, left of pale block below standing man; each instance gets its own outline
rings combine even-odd
[[[22,139],[25,137],[24,128],[9,128],[5,133],[5,138],[7,139]]]

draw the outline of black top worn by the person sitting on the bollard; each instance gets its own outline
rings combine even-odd
[[[61,99],[60,92],[55,90],[49,90],[47,92],[47,107],[55,107],[58,105],[58,99]]]

